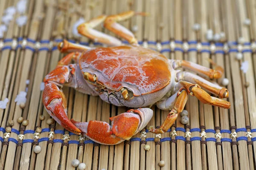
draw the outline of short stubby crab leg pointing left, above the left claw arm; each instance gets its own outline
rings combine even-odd
[[[70,53],[70,52],[83,52],[91,49],[88,46],[80,45],[72,42],[68,42],[67,40],[63,40],[58,44],[58,50],[61,53]]]

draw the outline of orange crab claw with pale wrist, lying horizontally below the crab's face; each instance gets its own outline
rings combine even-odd
[[[111,125],[107,122],[90,121],[71,122],[78,127],[84,136],[100,144],[119,144],[130,139],[142,130],[153,116],[149,108],[131,109],[125,113],[109,118]]]

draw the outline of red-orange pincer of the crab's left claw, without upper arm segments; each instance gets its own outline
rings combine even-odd
[[[63,92],[54,83],[48,83],[44,87],[43,103],[47,112],[58,124],[77,135],[81,130],[77,128],[67,117],[67,101]]]

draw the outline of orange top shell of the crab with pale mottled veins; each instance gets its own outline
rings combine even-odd
[[[97,83],[114,91],[130,87],[134,96],[165,88],[171,79],[168,59],[140,46],[118,46],[84,51],[80,69],[96,74]],[[99,76],[102,75],[102,76]]]

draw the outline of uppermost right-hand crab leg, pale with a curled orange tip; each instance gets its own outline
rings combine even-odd
[[[196,64],[194,62],[189,62],[186,60],[174,60],[173,62],[173,68],[185,68],[191,71],[195,71],[201,76],[207,76],[209,79],[219,79],[222,77],[224,70],[221,66],[216,65],[213,61],[210,60],[210,62],[215,65],[215,69],[207,68],[202,65]]]

